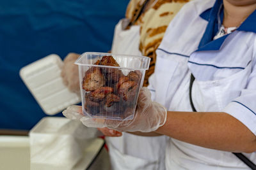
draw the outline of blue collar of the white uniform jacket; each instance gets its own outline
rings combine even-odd
[[[221,45],[228,37],[229,34],[223,36],[221,38],[215,39],[212,41],[218,30],[220,29],[220,25],[223,22],[223,1],[216,0],[214,6],[205,10],[200,17],[204,20],[208,21],[207,27],[205,29],[204,35],[198,45],[198,50],[196,51],[208,51],[208,50],[220,50]],[[220,21],[218,21],[218,16],[220,16]],[[220,22],[220,23],[219,23]],[[243,24],[237,28],[237,31],[250,31],[256,33],[256,10],[246,18]]]

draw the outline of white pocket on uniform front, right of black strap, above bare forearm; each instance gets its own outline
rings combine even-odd
[[[193,103],[197,111],[221,111],[228,103],[241,95],[246,88],[252,64],[243,70],[220,80],[195,80],[192,89]]]

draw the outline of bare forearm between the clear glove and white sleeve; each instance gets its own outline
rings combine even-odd
[[[255,135],[227,113],[168,111],[166,123],[156,132],[205,148],[230,152],[256,150]]]

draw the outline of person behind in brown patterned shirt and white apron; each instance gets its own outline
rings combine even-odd
[[[116,25],[111,53],[145,55],[151,59],[143,86],[148,85],[148,77],[154,73],[156,49],[170,20],[187,2],[131,0],[125,18]],[[78,57],[78,54],[70,53],[64,60],[62,71],[66,85],[77,93],[79,80],[74,61]],[[144,137],[106,128],[99,130],[106,135],[112,169],[165,169],[166,136]],[[111,138],[115,136],[119,138]]]

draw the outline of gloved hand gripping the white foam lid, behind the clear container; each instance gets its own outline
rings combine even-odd
[[[71,92],[75,92],[77,94],[80,94],[79,74],[78,66],[74,64],[74,62],[79,56],[80,55],[77,53],[68,53],[67,57],[64,59],[64,64],[61,69],[61,77],[64,84]]]

